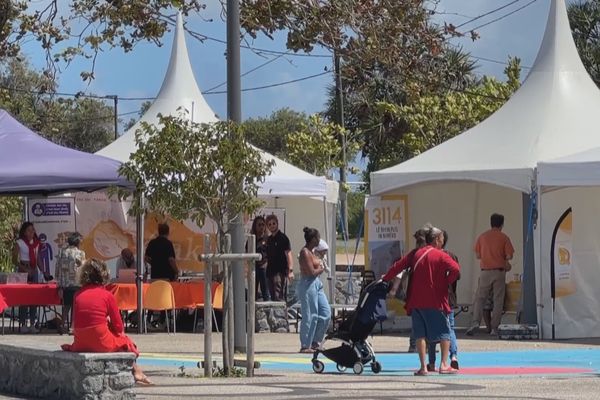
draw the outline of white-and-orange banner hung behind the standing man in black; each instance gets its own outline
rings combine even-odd
[[[136,219],[128,214],[131,202],[110,198],[104,193],[78,193],[75,199],[77,229],[83,235],[81,245],[88,257],[105,261],[112,276],[116,261],[124,248],[135,252]],[[204,235],[214,234],[210,220],[199,227],[192,221],[177,221],[169,216],[147,214],[144,220],[144,246],[158,235],[158,224],[169,225],[177,266],[184,271],[203,271],[198,256],[204,252]]]

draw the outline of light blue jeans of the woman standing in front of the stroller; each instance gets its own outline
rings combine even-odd
[[[331,307],[319,278],[301,277],[297,291],[302,312],[300,347],[307,349],[325,337],[331,319]]]

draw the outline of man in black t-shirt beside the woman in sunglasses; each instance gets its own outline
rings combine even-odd
[[[271,236],[267,239],[267,280],[273,301],[285,301],[288,279],[294,279],[294,263],[290,239],[279,230],[277,216],[268,215],[267,228]]]

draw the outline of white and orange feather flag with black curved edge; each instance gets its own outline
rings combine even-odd
[[[554,298],[569,296],[577,291],[573,276],[573,210],[561,215],[552,234],[551,275]]]

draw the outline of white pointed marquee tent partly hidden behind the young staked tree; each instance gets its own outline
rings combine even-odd
[[[183,19],[179,14],[169,67],[158,96],[140,121],[96,154],[128,161],[136,150],[135,132],[141,121],[157,124],[159,113],[179,115],[182,111],[194,122],[218,121],[196,82],[185,42]],[[286,234],[293,251],[299,251],[304,245],[302,228],[306,225],[319,229],[324,239],[335,243],[337,183],[309,174],[266,152],[262,152],[262,156],[265,160],[275,160],[275,166],[262,183],[259,196],[267,202],[267,207],[285,208]]]

